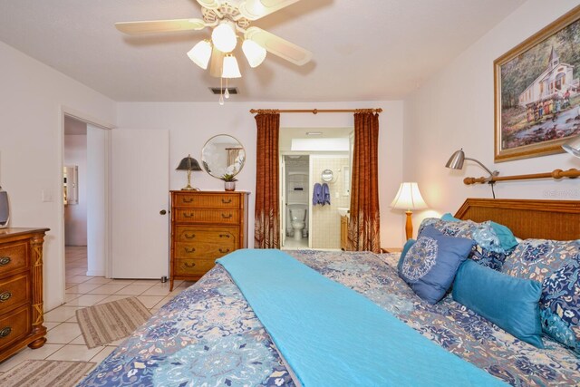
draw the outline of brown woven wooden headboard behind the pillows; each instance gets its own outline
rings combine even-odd
[[[468,198],[455,218],[493,220],[522,239],[580,238],[580,200]]]

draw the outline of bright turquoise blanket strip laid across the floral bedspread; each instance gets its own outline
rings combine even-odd
[[[218,259],[304,387],[505,385],[279,250]]]

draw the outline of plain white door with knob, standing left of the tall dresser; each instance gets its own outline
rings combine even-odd
[[[169,131],[111,134],[111,276],[168,276]]]

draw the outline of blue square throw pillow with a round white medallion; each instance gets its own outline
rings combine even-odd
[[[474,244],[471,239],[447,237],[434,227],[424,227],[402,258],[399,276],[416,295],[436,304],[449,290]]]

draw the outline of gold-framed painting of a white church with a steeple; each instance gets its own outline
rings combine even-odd
[[[496,162],[560,153],[580,134],[580,6],[494,62]]]

